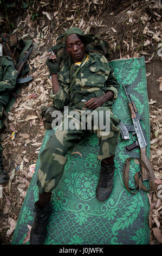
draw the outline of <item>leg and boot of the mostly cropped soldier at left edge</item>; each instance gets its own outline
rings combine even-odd
[[[3,106],[0,103],[0,130],[2,129],[2,114],[3,114]],[[3,147],[1,144],[1,135],[0,135],[0,184],[4,184],[9,182],[9,176],[3,169],[3,163],[2,163],[2,152],[3,152]]]

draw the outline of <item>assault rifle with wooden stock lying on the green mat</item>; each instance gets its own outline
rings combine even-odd
[[[128,86],[128,84],[126,86]],[[153,169],[151,167],[150,161],[146,156],[146,146],[148,142],[145,136],[144,129],[141,124],[140,115],[138,113],[137,107],[135,106],[135,103],[132,100],[131,95],[127,94],[125,85],[122,84],[122,87],[124,88],[125,94],[127,96],[128,107],[129,107],[129,111],[131,112],[131,119],[133,121],[133,125],[126,125],[121,123],[121,121],[119,121],[121,138],[129,139],[129,132],[132,132],[133,135],[137,135],[137,141],[128,145],[126,149],[128,151],[131,151],[136,147],[140,147],[140,157],[141,157],[141,160],[144,162],[145,167],[147,168],[146,170],[144,165],[141,165],[142,181],[145,181],[148,179],[154,179],[155,176],[153,173]]]

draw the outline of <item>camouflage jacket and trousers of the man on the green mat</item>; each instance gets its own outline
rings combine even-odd
[[[54,106],[57,109],[62,109],[63,106],[69,107],[69,112],[72,110],[82,111],[93,109],[85,108],[82,100],[88,101],[92,97],[100,97],[108,90],[114,93],[113,99],[105,102],[101,107],[96,108],[96,111],[103,110],[104,112],[111,111],[113,101],[118,94],[118,81],[115,78],[113,69],[108,64],[107,59],[96,53],[89,53],[89,59],[77,73],[72,90],[69,92],[70,86],[70,60],[68,60],[58,74],[60,90],[57,94],[51,93]],[[74,65],[73,72],[75,73],[77,65]],[[68,123],[72,120],[69,114]],[[65,117],[62,123],[64,124]],[[110,114],[110,132],[109,135],[100,135],[100,129],[92,130],[56,130],[55,134],[49,138],[46,148],[40,155],[41,166],[38,170],[37,185],[39,192],[51,192],[57,186],[66,164],[68,150],[74,148],[75,144],[80,139],[85,138],[90,132],[96,133],[99,139],[99,154],[98,159],[106,159],[115,154],[116,145],[120,135],[118,119]]]

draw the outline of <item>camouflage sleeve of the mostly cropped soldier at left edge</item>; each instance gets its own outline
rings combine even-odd
[[[1,69],[2,81],[0,81],[0,94],[5,95],[14,90],[18,74],[10,57],[4,58]]]

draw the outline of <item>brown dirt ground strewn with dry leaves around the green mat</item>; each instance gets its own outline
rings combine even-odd
[[[148,223],[150,244],[162,244],[162,199],[158,197],[158,187],[162,184],[162,92],[160,82],[157,81],[162,77],[162,61],[157,54],[158,44],[162,42],[161,1],[64,0],[55,1],[55,4],[48,0],[42,2],[44,4],[40,1],[31,2],[34,3],[25,2],[29,6],[25,8],[24,5],[23,9],[21,1],[17,1],[15,13],[10,8],[7,9],[9,20],[15,15],[12,33],[24,36],[24,40],[33,39],[36,47],[28,61],[29,74],[33,76],[33,81],[22,86],[14,106],[10,109],[9,135],[3,141],[3,163],[10,175],[10,183],[2,185],[0,243],[10,244],[12,240],[18,215],[33,176],[29,171],[29,165],[36,163],[46,131],[40,107],[52,104],[52,100],[49,99],[51,80],[48,78],[46,66],[48,50],[55,44],[57,35],[71,26],[78,26],[85,33],[101,34],[108,45],[109,60],[145,56],[150,102],[150,161],[157,178],[156,191],[147,194],[150,202]],[[2,32],[9,33],[6,13],[2,13],[0,23],[5,25]],[[16,136],[11,140],[14,131]]]

